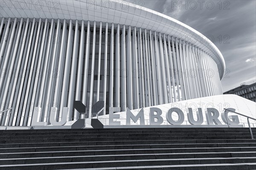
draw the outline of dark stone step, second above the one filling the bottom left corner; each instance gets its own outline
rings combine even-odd
[[[53,152],[0,153],[0,159],[31,158],[52,156],[90,156],[150,153],[202,153],[202,152],[256,152],[256,147],[201,147],[201,148],[161,148],[161,149],[121,149],[121,150],[76,150]]]

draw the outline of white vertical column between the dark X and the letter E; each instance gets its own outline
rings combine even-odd
[[[107,77],[108,77],[108,23],[106,23],[105,29],[105,52],[104,52],[104,114],[106,114],[106,107],[107,107]]]

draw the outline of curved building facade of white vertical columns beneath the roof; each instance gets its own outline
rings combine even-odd
[[[218,48],[157,29],[121,20],[2,15],[1,111],[12,110],[0,115],[0,125],[30,125],[35,108],[39,121],[49,123],[52,107],[59,120],[64,107],[68,119],[76,120],[75,100],[91,117],[97,101],[104,101],[106,114],[109,107],[125,111],[222,94],[224,60]]]

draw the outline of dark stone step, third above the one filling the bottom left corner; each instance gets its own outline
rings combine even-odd
[[[160,149],[160,148],[200,148],[200,147],[256,147],[255,143],[224,144],[140,144],[140,145],[102,145],[102,146],[53,146],[53,147],[14,147],[0,148],[0,153],[51,152],[71,150],[116,150],[116,149]]]

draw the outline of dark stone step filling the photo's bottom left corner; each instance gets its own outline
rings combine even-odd
[[[130,167],[130,166],[163,166],[163,165],[180,165],[180,164],[244,164],[254,163],[256,157],[244,158],[201,158],[201,159],[141,159],[126,161],[84,161],[84,162],[61,162],[61,163],[44,163],[44,164],[12,164],[1,165],[1,168],[9,170],[11,168],[20,170],[58,170],[70,168],[102,168],[102,167]],[[250,164],[253,165],[253,164]],[[248,167],[248,166],[247,166]],[[252,166],[253,168],[253,166]],[[249,168],[248,168],[249,169]]]

